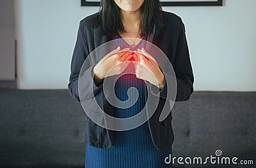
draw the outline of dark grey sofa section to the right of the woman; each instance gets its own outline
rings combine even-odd
[[[222,155],[219,158],[237,157],[254,160],[256,164],[255,109],[256,92],[196,91],[188,101],[175,102],[172,111],[173,157],[216,157],[216,150],[220,149]],[[227,165],[216,164],[215,167]]]

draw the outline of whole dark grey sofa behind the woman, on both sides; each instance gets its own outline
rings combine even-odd
[[[173,157],[253,160],[256,93],[195,91],[173,108]],[[0,167],[84,167],[84,112],[67,90],[0,89]],[[184,160],[183,160],[184,161]],[[237,160],[238,162],[238,160]],[[174,167],[253,167],[188,165]]]

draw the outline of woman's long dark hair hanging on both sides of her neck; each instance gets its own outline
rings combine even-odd
[[[156,35],[163,26],[162,6],[159,0],[145,0],[141,6],[140,35],[147,35],[156,26]],[[120,8],[114,0],[100,1],[100,24],[104,33],[111,35],[118,31],[125,32],[120,16]]]

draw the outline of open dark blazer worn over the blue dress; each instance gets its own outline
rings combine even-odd
[[[182,19],[174,13],[163,11],[162,14],[164,24],[163,31],[161,31],[158,36],[154,34],[152,36],[152,33],[149,34],[149,36],[153,37],[152,43],[163,50],[164,54],[166,54],[172,63],[177,80],[177,95],[175,101],[185,101],[188,100],[191,93],[193,93],[194,82],[185,27]],[[97,20],[96,16],[97,13],[85,17],[80,21],[76,45],[72,56],[68,90],[70,91],[70,95],[78,102],[80,102],[78,79],[84,60],[95,48],[110,40],[108,36],[102,34],[101,26],[93,24],[95,19]],[[94,94],[95,99],[99,102],[100,108],[102,108],[104,112],[111,113],[113,106],[108,103],[104,97],[104,93],[102,94],[102,84],[96,86],[93,82],[92,68],[93,66],[88,68],[84,73],[83,85],[86,86],[84,87],[84,93],[86,93],[84,96],[86,98],[86,96],[90,97]],[[166,82],[164,82],[156,112],[154,112],[153,116],[147,121],[152,141],[157,149],[172,146],[174,140],[172,112],[170,112],[164,121],[159,121],[161,109],[163,109],[166,100],[166,87]],[[94,107],[90,107],[90,109],[93,108]],[[95,111],[95,109],[93,111]],[[102,121],[104,121],[104,115],[102,115]],[[114,135],[112,130],[102,128],[86,116],[86,128],[84,129],[83,142],[87,142],[97,148],[113,148]]]

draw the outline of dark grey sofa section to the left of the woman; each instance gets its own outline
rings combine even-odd
[[[84,111],[65,90],[0,90],[0,167],[83,166]]]

